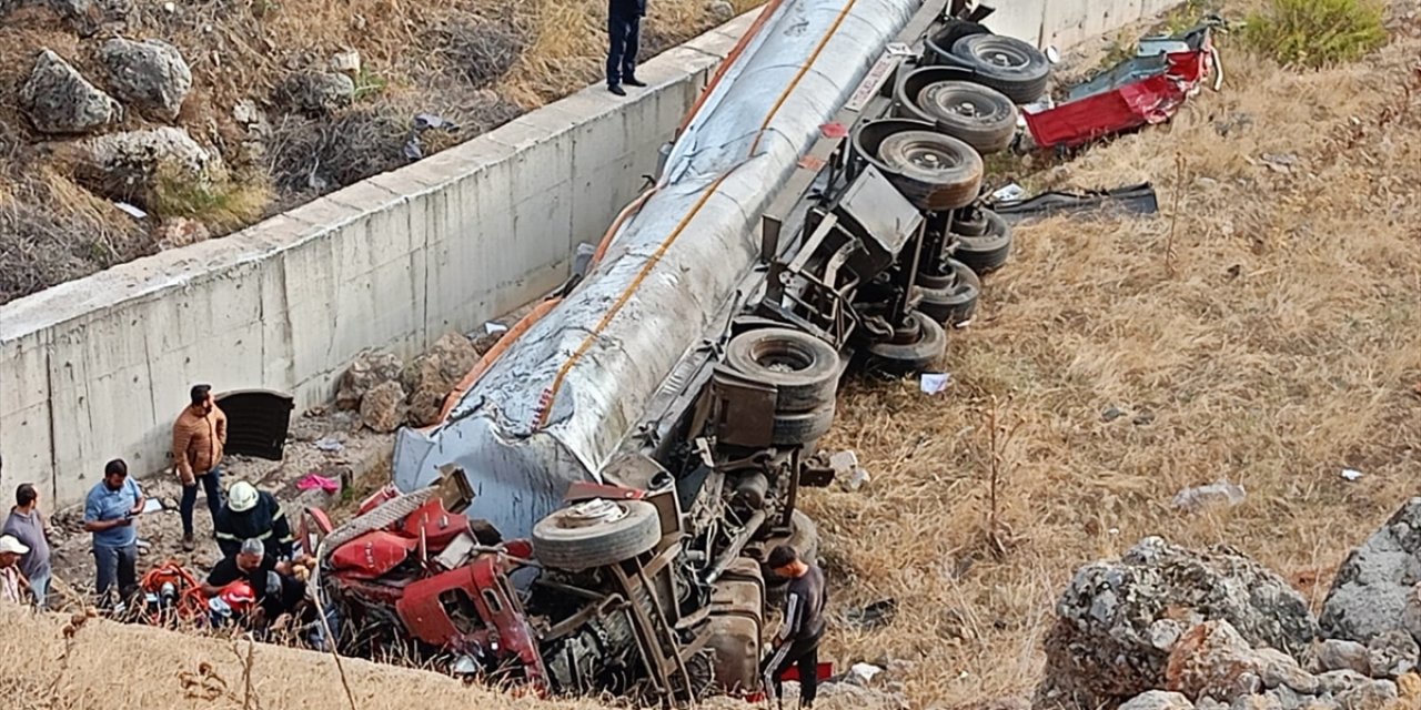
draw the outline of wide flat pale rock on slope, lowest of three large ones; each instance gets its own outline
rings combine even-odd
[[[87,141],[84,149],[85,180],[115,199],[146,199],[158,187],[162,170],[183,182],[206,182],[222,172],[215,151],[175,126],[102,135]]]

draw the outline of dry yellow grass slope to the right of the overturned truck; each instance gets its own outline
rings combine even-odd
[[[1027,696],[1074,568],[1150,534],[1235,545],[1320,602],[1349,548],[1418,493],[1418,53],[1400,38],[1297,74],[1226,51],[1223,94],[1046,176],[1150,179],[1167,213],[1020,229],[952,341],[951,396],[848,389],[831,446],[875,479],[806,507],[828,534],[834,608],[891,596],[898,615],[840,623],[838,662],[911,662],[918,707]],[[1023,422],[1000,452],[1000,558],[983,535],[993,396],[1010,400],[1000,422]],[[1125,416],[1106,422],[1110,408]],[[1218,479],[1248,500],[1172,508]]]

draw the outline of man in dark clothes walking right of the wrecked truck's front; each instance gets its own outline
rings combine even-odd
[[[824,638],[824,602],[827,599],[824,572],[800,559],[793,547],[779,545],[770,551],[766,564],[774,574],[790,581],[784,596],[784,625],[774,635],[774,650],[760,672],[766,689],[774,697],[783,696],[780,676],[790,666],[799,666],[800,707],[813,707],[818,693],[818,642]]]

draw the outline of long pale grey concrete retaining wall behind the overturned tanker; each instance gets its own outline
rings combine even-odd
[[[993,28],[1064,47],[1169,3],[1000,4]],[[362,348],[411,356],[547,293],[635,196],[750,21],[652,60],[652,88],[627,99],[593,87],[226,239],[0,307],[0,493],[34,481],[68,504],[108,459],[166,469],[196,382],[290,390],[301,410]]]

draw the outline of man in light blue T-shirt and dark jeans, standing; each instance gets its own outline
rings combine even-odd
[[[128,464],[114,459],[104,466],[104,480],[84,498],[84,530],[94,534],[94,594],[108,606],[118,584],[126,601],[138,589],[138,515],[144,514],[144,490],[128,476]]]

